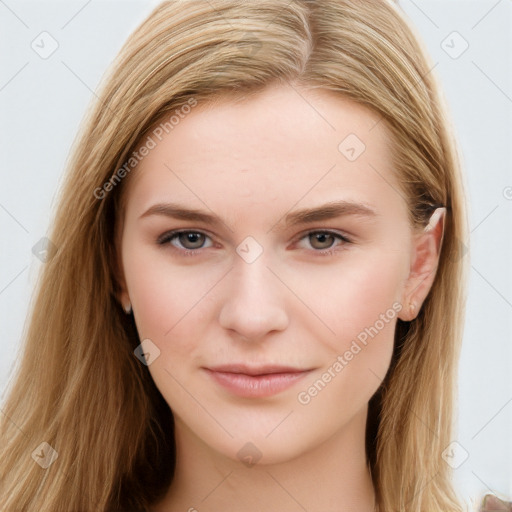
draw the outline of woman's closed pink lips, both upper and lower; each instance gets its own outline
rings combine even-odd
[[[224,365],[204,368],[222,387],[246,398],[272,396],[293,386],[310,370],[287,366]]]

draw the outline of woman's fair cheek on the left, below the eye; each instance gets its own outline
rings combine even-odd
[[[170,264],[165,254],[127,251],[126,282],[140,340],[151,340],[158,357],[148,370],[166,399],[188,403],[190,370],[200,358],[201,342],[212,315],[211,290],[224,269]],[[183,387],[184,386],[184,387]]]

